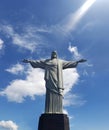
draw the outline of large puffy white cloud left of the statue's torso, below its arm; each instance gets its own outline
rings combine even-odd
[[[23,102],[27,96],[34,100],[35,95],[43,95],[45,93],[43,71],[29,67],[26,73],[25,80],[13,80],[4,91],[0,92],[0,95],[6,96],[9,101],[18,103]]]

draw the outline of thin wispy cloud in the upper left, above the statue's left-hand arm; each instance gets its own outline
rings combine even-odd
[[[18,33],[15,28],[11,25],[0,25],[0,30],[5,34],[7,38],[12,39],[14,45],[19,46],[20,48],[27,49],[31,52],[34,52],[39,44],[45,43],[44,37],[41,33],[49,32],[46,27],[33,27],[26,26],[22,27]]]

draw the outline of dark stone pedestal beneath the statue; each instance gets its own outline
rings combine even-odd
[[[42,114],[38,130],[70,130],[69,118],[66,114]]]

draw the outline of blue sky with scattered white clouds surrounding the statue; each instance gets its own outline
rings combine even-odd
[[[87,62],[63,71],[70,130],[109,130],[109,1],[0,0],[0,130],[37,130],[44,70],[23,59]]]

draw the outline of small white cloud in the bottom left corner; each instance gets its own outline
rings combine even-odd
[[[18,126],[13,121],[0,121],[0,127],[7,130],[18,130]]]

